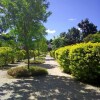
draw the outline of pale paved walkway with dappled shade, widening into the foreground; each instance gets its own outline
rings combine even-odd
[[[100,100],[100,88],[62,73],[50,56],[42,67],[49,75],[27,79],[11,79],[0,70],[0,100]]]

